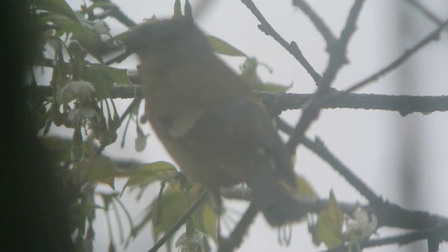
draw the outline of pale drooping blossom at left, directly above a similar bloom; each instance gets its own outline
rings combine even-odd
[[[70,80],[64,87],[57,92],[57,102],[69,103],[73,99],[79,102],[87,102],[92,100],[92,94],[95,88],[89,81],[85,80]]]

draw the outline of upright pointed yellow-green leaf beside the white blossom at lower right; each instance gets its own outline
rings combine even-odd
[[[342,225],[344,224],[344,214],[337,204],[335,195],[330,192],[328,208],[322,209],[319,214],[314,239],[323,241],[328,248],[339,246],[344,241],[342,236]]]

